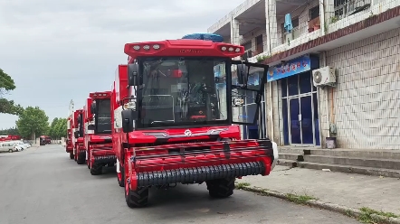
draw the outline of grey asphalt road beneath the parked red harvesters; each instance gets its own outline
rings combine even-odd
[[[248,191],[212,200],[205,184],[154,189],[147,208],[129,209],[115,169],[105,172],[91,176],[60,145],[0,154],[0,223],[359,223]]]

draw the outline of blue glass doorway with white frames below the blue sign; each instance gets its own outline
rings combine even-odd
[[[320,145],[317,89],[311,71],[281,79],[281,89],[285,145]]]

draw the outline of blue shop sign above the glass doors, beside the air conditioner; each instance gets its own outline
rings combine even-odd
[[[271,67],[268,70],[267,82],[287,78],[309,70],[311,70],[310,55],[301,56],[287,61],[285,64]]]

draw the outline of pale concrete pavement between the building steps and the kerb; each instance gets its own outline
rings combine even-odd
[[[360,209],[393,212],[400,217],[400,179],[333,173],[277,165],[270,176],[243,177],[241,185]],[[399,219],[400,220],[400,219]],[[398,222],[400,223],[400,222]]]

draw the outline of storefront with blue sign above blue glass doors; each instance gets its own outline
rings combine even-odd
[[[267,82],[277,81],[277,103],[281,104],[280,134],[282,145],[320,145],[318,94],[312,70],[319,68],[319,58],[304,55],[271,67]]]

